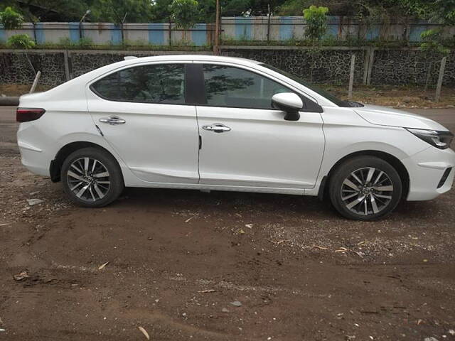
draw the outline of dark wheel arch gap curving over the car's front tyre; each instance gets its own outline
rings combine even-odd
[[[410,190],[410,174],[408,173],[405,165],[398,159],[396,156],[393,156],[390,153],[386,153],[385,151],[373,151],[373,150],[365,150],[365,151],[355,151],[350,153],[343,158],[336,161],[335,164],[331,167],[330,171],[328,171],[327,175],[323,177],[321,180],[321,187],[319,188],[319,195],[318,197],[322,200],[323,197],[326,197],[328,193],[328,188],[331,180],[331,176],[335,173],[336,169],[340,167],[345,161],[350,158],[354,158],[355,156],[376,156],[381,158],[382,160],[390,163],[390,165],[395,168],[400,175],[400,179],[402,181],[402,197],[407,197],[409,190]]]

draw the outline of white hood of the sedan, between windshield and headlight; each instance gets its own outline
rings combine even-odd
[[[379,105],[365,104],[364,107],[353,108],[365,121],[380,126],[402,126],[414,129],[432,129],[446,131],[446,127],[433,121],[410,112],[399,109],[380,107]]]

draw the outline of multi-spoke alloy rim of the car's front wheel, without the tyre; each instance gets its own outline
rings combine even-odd
[[[375,215],[392,201],[393,185],[389,175],[378,168],[359,168],[341,185],[341,200],[357,215]]]

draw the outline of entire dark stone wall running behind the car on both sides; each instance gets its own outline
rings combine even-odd
[[[97,67],[123,60],[125,55],[172,55],[188,52],[105,50],[0,50],[0,82],[31,84],[35,70],[42,72],[40,84],[59,85]],[[208,51],[198,52],[211,54]],[[434,85],[441,55],[420,50],[375,50],[373,48],[289,48],[225,46],[222,54],[249,58],[279,67],[305,80],[319,83],[348,82],[350,56],[355,53],[355,82],[372,85]],[[373,53],[373,59],[371,54]],[[373,60],[373,63],[370,61]],[[447,59],[444,85],[455,85],[455,53]]]

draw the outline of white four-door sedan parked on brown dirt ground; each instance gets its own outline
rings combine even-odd
[[[343,102],[241,58],[125,58],[17,109],[22,163],[100,207],[124,186],[329,197],[376,220],[454,181],[453,134],[431,119]]]

